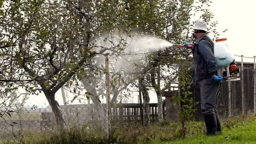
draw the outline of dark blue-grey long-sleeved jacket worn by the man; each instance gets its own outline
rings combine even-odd
[[[195,60],[195,81],[208,79],[217,74],[213,47],[214,43],[207,35],[195,42],[192,51]]]

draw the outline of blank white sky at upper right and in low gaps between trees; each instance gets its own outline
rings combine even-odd
[[[217,30],[222,32],[225,29],[228,31],[220,36],[220,38],[227,38],[229,50],[236,55],[244,55],[253,57],[256,55],[256,45],[254,45],[256,35],[256,19],[254,7],[256,0],[212,0],[211,11],[214,13],[215,21],[219,22]],[[240,61],[240,57],[236,57],[236,61]],[[246,59],[244,61],[253,62],[253,59]],[[157,98],[154,92],[149,92],[150,102],[156,103]],[[133,94],[133,99],[129,102],[136,103],[138,96]],[[56,93],[56,99],[62,105],[61,91]],[[70,100],[70,99],[69,99]],[[38,105],[39,107],[47,107],[48,102],[45,96],[31,96],[27,100],[27,104]]]

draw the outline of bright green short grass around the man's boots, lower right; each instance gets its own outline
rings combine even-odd
[[[187,139],[162,142],[155,141],[150,144],[256,144],[256,120],[233,123],[223,129],[218,136],[195,135]]]

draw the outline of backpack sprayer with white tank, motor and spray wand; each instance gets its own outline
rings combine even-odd
[[[229,52],[227,39],[216,39],[214,44],[214,57],[217,65],[217,75],[223,76],[225,81],[237,81],[240,80],[240,68],[235,62],[235,56]],[[184,45],[175,45],[184,47]],[[188,45],[189,52],[192,52],[194,45]]]

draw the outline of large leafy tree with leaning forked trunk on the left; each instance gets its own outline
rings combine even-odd
[[[55,93],[77,85],[87,75],[88,62],[107,50],[94,51],[92,43],[102,32],[104,14],[96,11],[101,6],[99,0],[6,0],[3,6],[1,81],[19,82],[31,94],[43,91],[61,127],[65,121]]]

